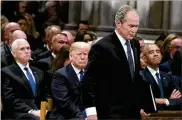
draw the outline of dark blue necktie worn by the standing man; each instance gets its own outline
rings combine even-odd
[[[130,41],[126,40],[126,46],[127,46],[127,55],[128,55],[128,63],[130,67],[131,77],[134,77],[134,63],[133,63],[133,57],[131,54],[131,47],[130,47]]]

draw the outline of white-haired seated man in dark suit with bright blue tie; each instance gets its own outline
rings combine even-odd
[[[46,98],[44,74],[29,66],[31,50],[27,40],[16,39],[12,43],[12,54],[16,62],[1,70],[4,116],[39,120],[40,101]]]

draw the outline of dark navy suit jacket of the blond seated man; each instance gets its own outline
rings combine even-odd
[[[50,114],[51,119],[83,118],[80,108],[80,82],[71,64],[55,72],[51,89],[55,104]]]

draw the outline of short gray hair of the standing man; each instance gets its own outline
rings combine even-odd
[[[126,17],[126,14],[129,12],[129,11],[135,11],[134,8],[132,8],[131,6],[129,5],[122,5],[119,10],[116,12],[116,15],[115,15],[115,21],[120,21],[121,23],[124,22],[125,20],[125,17]]]

